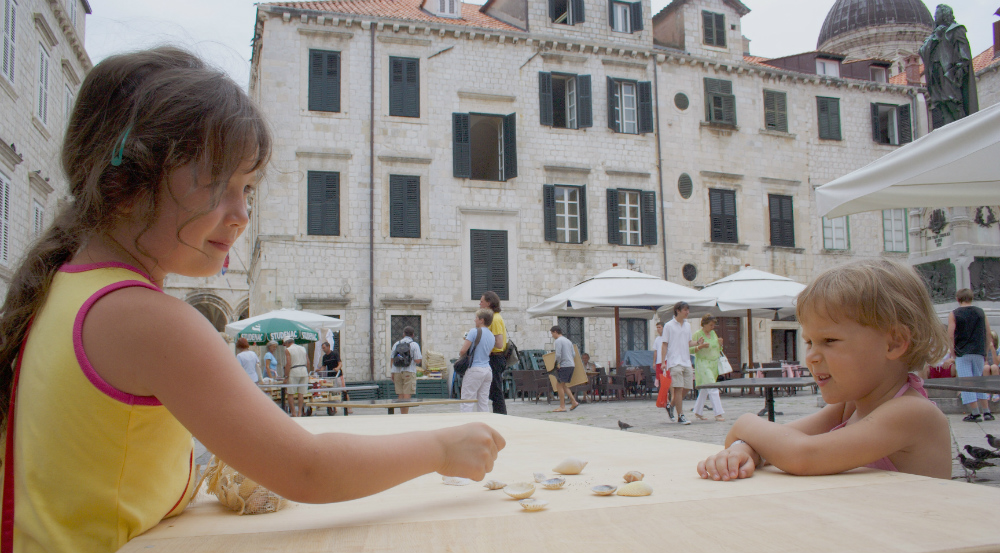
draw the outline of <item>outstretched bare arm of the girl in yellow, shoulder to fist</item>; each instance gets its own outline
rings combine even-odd
[[[247,378],[204,317],[147,289],[98,301],[83,342],[109,384],[157,397],[209,451],[293,501],[354,499],[434,471],[481,479],[505,445],[484,424],[392,436],[310,434]]]

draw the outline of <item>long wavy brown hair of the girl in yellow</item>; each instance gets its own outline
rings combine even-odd
[[[257,106],[190,52],[161,47],[121,54],[90,71],[62,148],[71,201],[25,256],[0,313],[0,424],[7,420],[18,351],[59,267],[88,239],[125,221],[123,207],[146,222],[135,239],[142,252],[139,237],[156,220],[160,189],[173,170],[195,164],[209,173],[217,205],[237,170],[248,162],[251,171],[262,169],[270,153],[270,130]]]

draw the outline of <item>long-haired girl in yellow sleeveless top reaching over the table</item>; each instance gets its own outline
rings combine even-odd
[[[247,95],[184,51],[114,56],[87,76],[62,154],[72,201],[0,319],[5,551],[115,551],[177,514],[194,487],[192,434],[306,503],[492,470],[504,440],[483,424],[310,434],[162,292],[168,274],[219,272],[270,148]]]

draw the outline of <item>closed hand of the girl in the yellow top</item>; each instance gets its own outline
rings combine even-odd
[[[437,472],[443,476],[482,480],[493,470],[497,453],[507,445],[496,430],[479,422],[445,428],[437,434],[444,454]]]

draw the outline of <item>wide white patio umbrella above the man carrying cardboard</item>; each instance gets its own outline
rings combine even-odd
[[[656,310],[679,301],[711,306],[715,297],[629,269],[611,269],[528,308],[532,317],[614,317],[615,363],[621,362],[618,321],[627,317],[651,319]]]

